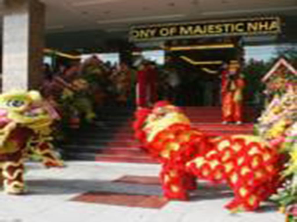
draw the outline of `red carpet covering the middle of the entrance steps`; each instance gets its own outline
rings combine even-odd
[[[256,113],[251,108],[245,109],[248,123],[242,125],[222,125],[220,107],[183,107],[193,126],[213,136],[231,134],[252,134]],[[129,163],[156,163],[148,154],[140,149],[140,144],[133,138],[131,117],[119,126],[113,134],[113,139],[106,144],[104,150],[96,155],[97,161],[129,162]]]

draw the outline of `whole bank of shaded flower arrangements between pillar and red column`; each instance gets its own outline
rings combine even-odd
[[[102,106],[133,102],[134,74],[124,63],[111,66],[93,56],[56,70],[44,64],[43,74],[40,91],[59,112],[63,128],[93,122]]]

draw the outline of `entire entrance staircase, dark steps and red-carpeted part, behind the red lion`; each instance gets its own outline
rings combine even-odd
[[[182,107],[192,125],[211,136],[251,134],[252,123],[222,125],[220,107]],[[248,120],[255,119],[251,108],[245,109]],[[60,144],[67,160],[96,160],[106,162],[157,163],[140,149],[133,138],[134,109],[130,107],[105,107],[98,121],[88,128],[71,132],[69,141]]]

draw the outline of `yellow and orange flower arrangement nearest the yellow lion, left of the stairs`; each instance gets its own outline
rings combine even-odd
[[[79,128],[83,122],[94,119],[92,91],[89,83],[80,76],[79,67],[71,67],[65,75],[57,75],[45,85],[44,96],[56,108],[61,116],[60,125],[67,128]],[[63,138],[63,135],[57,135]]]

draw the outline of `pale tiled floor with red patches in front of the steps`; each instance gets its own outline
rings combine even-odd
[[[200,182],[188,202],[162,198],[159,165],[68,162],[66,168],[28,164],[29,193],[0,193],[0,222],[283,222],[266,204],[257,212],[230,214],[225,186]]]

